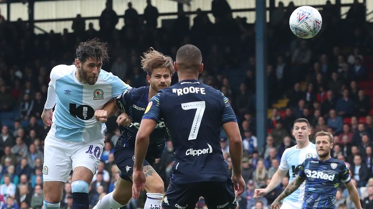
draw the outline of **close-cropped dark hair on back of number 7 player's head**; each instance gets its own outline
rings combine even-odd
[[[183,45],[177,50],[176,63],[179,70],[197,71],[202,63],[201,50],[195,45]]]

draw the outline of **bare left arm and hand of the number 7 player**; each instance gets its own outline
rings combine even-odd
[[[142,119],[140,128],[136,134],[135,164],[132,174],[132,197],[137,199],[140,192],[145,189],[146,177],[143,171],[143,163],[146,151],[149,147],[149,136],[155,128],[156,122],[153,119]]]

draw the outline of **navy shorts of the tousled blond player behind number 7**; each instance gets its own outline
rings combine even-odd
[[[132,176],[132,173],[134,172],[135,149],[115,146],[114,160],[121,171],[119,177],[132,182],[130,176]],[[143,166],[152,165],[153,162],[154,161],[152,160],[151,163],[149,163],[145,159]]]

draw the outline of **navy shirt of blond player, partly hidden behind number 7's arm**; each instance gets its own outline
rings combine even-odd
[[[120,137],[117,145],[135,149],[136,134],[148,105],[149,88],[149,86],[146,86],[128,89],[117,98],[118,108],[125,111],[132,120],[130,126],[120,126]],[[155,160],[161,157],[167,135],[165,122],[160,118],[157,120],[155,130],[150,135],[147,159],[153,158]]]

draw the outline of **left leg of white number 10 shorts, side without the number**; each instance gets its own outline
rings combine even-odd
[[[71,150],[67,141],[58,140],[50,134],[44,141],[43,181],[65,183],[71,171]]]

